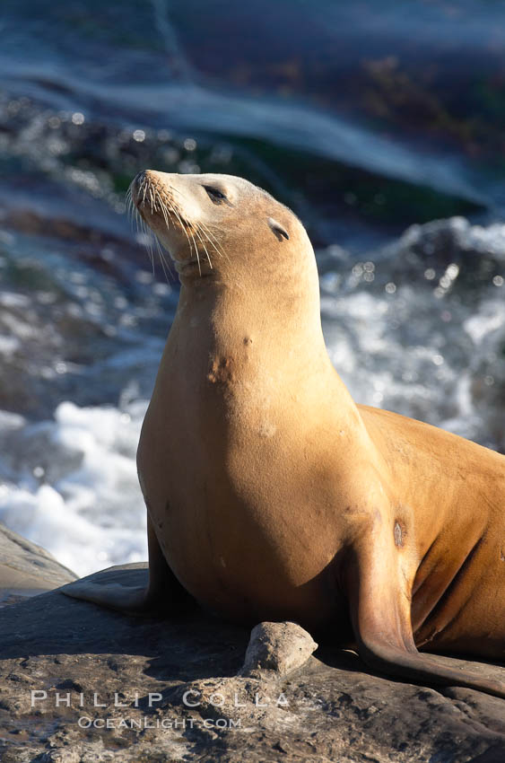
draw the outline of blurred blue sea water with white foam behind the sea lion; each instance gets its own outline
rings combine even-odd
[[[178,283],[135,173],[242,175],[314,243],[358,402],[505,452],[505,3],[3,0],[0,519],[146,558],[135,448]]]

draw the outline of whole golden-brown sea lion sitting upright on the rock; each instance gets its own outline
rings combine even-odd
[[[476,680],[419,653],[503,658],[505,458],[356,406],[331,364],[300,221],[248,181],[146,171],[136,208],[181,291],[137,462],[147,590],[73,584],[127,611],[333,628],[372,668]]]

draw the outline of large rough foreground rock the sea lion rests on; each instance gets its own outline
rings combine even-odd
[[[136,565],[93,577],[138,585],[146,575]],[[0,759],[505,760],[502,699],[372,675],[356,654],[331,646],[289,676],[237,676],[248,639],[247,629],[199,610],[173,620],[132,618],[57,591],[5,607]],[[503,668],[464,664],[503,680]]]

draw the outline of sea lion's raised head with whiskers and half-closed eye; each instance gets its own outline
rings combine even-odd
[[[300,220],[263,189],[233,175],[146,170],[131,200],[169,251],[184,283],[215,276],[239,280],[280,269],[316,275],[314,252]],[[305,281],[305,286],[307,282]]]

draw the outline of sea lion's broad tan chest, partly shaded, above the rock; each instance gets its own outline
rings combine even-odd
[[[170,568],[206,608],[317,627],[335,610],[324,489],[315,501],[311,464],[299,463],[268,385],[242,380],[231,399],[235,367],[211,358],[182,386],[159,376],[137,456],[148,511]]]

